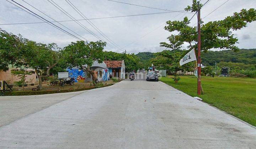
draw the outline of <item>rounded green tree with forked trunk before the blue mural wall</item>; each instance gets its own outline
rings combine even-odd
[[[77,41],[72,42],[66,46],[62,51],[63,59],[62,64],[67,64],[68,67],[78,67],[81,70],[85,69],[92,75],[92,82],[95,84],[96,77],[94,71],[91,70],[91,66],[94,61],[102,63],[105,59],[103,49],[106,46],[106,42],[84,42]]]

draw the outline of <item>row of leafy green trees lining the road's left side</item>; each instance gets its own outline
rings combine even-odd
[[[54,81],[56,78],[53,76],[58,72],[66,72],[67,68],[73,67],[89,72],[93,86],[101,87],[101,83],[96,85],[97,78],[90,68],[94,61],[101,63],[106,59],[124,60],[127,72],[138,69],[139,58],[137,56],[133,53],[105,51],[106,44],[102,41],[76,41],[60,48],[55,43],[37,43],[23,38],[22,35],[15,35],[0,29],[0,70],[7,71],[11,67],[15,68],[12,73],[18,76],[20,81],[11,85],[22,86],[22,90],[28,89],[25,86],[27,83],[25,77],[36,73],[39,81],[36,88],[44,91],[44,81],[47,79]],[[28,69],[33,71],[27,71]]]

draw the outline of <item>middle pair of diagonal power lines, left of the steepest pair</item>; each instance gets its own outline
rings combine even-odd
[[[47,1],[49,1],[49,0],[47,0]],[[73,20],[73,21],[75,21],[75,18],[73,17],[73,16],[71,16],[68,12],[66,12],[62,7],[60,7],[58,4],[56,4],[53,0],[51,0],[52,2],[50,2],[53,6],[55,6],[57,9],[61,9],[60,11],[61,12],[63,12],[66,16],[68,16],[69,18],[71,18],[71,20]],[[57,7],[57,6],[58,7]],[[87,27],[85,27],[82,23],[80,23],[79,21],[75,21],[79,26],[81,26],[82,28],[84,28],[87,32],[89,32],[90,34],[92,34],[94,37],[96,37],[96,38],[98,38],[99,40],[102,40],[102,41],[104,41],[103,39],[101,39],[100,37],[98,37],[98,35],[96,35],[94,32],[92,32],[92,31],[90,31],[90,29],[88,29]],[[108,46],[110,46],[111,48],[113,48],[114,49],[114,47],[113,46],[111,46],[111,45],[108,45]]]

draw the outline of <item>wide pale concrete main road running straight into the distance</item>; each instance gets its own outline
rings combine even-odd
[[[0,127],[0,148],[256,148],[256,129],[162,82],[88,90]]]

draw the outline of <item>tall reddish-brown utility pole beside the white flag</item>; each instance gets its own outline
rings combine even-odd
[[[198,57],[198,64],[197,64],[197,74],[198,74],[198,78],[197,78],[197,94],[198,95],[201,95],[201,29],[200,29],[200,23],[199,21],[201,21],[201,18],[200,18],[200,4],[198,2],[198,15],[197,15],[197,26],[198,26],[198,39],[197,39],[197,57]]]

